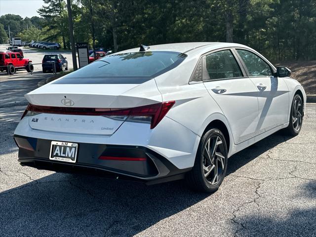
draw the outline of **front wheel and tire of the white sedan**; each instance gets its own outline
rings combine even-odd
[[[290,120],[285,132],[290,136],[296,136],[300,133],[303,123],[303,101],[300,95],[293,97],[290,111]]]

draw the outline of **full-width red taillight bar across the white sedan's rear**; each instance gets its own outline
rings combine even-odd
[[[50,107],[29,104],[22,118],[39,113],[63,114],[63,115],[90,115],[106,116],[113,119],[126,120],[130,122],[151,123],[151,129],[157,126],[161,119],[175,104],[175,101],[161,102],[158,104],[145,105],[136,108],[113,109],[113,108],[69,108]],[[21,119],[22,119],[21,118]]]

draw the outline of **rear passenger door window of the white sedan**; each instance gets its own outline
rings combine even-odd
[[[237,61],[230,50],[207,55],[205,63],[211,80],[242,77]]]

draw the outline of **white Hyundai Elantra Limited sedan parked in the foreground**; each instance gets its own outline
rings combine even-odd
[[[22,165],[155,184],[221,185],[228,158],[285,128],[306,94],[252,48],[190,42],[108,55],[25,95],[15,132]]]

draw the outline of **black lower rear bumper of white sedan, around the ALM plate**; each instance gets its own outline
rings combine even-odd
[[[148,184],[181,179],[179,169],[155,151],[141,146],[78,143],[76,163],[50,160],[52,140],[14,135],[21,165],[66,173],[84,173],[143,181]]]

